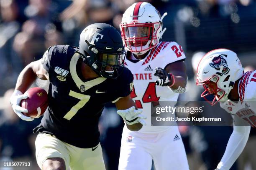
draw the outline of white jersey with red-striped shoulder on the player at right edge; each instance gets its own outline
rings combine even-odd
[[[220,103],[220,106],[256,127],[256,70],[243,74],[238,84],[238,94],[238,103],[228,100]]]

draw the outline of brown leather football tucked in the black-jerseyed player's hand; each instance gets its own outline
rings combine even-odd
[[[21,100],[20,106],[28,110],[23,115],[38,118],[44,114],[48,106],[48,94],[40,87],[28,89],[28,98]]]

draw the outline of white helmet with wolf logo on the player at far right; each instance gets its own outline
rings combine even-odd
[[[236,80],[243,76],[243,67],[236,53],[228,49],[216,49],[208,52],[197,66],[197,85],[203,85],[205,91],[201,97],[215,95],[211,105],[228,100],[228,94]]]

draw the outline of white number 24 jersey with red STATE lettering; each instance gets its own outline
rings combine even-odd
[[[169,128],[169,126],[151,126],[151,102],[155,105],[158,101],[177,101],[179,94],[174,93],[169,87],[156,86],[155,80],[158,78],[154,76],[154,70],[156,67],[164,68],[169,63],[185,58],[184,51],[177,42],[159,42],[159,45],[151,49],[143,60],[136,63],[125,58],[125,66],[131,70],[134,78],[131,97],[147,116],[147,125],[139,132],[161,132]],[[171,107],[174,107],[175,103],[172,102]]]

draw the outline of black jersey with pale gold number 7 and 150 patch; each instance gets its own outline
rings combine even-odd
[[[98,122],[107,102],[131,93],[133,75],[126,67],[117,79],[98,77],[83,81],[76,48],[55,45],[44,54],[42,65],[49,73],[48,109],[34,132],[49,133],[79,148],[99,143]]]

